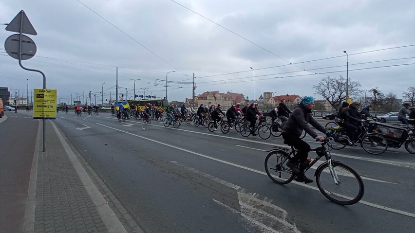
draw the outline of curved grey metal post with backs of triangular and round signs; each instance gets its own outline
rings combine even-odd
[[[19,65],[26,71],[34,71],[39,72],[43,76],[43,89],[46,89],[46,76],[43,72],[29,69],[24,67],[21,64],[21,60],[27,60],[32,58],[36,54],[36,44],[35,42],[29,38],[28,36],[23,35],[38,35],[35,28],[33,27],[32,23],[30,23],[29,18],[27,18],[26,14],[23,10],[19,12],[19,14],[13,18],[13,20],[7,25],[6,31],[9,32],[17,32],[19,34],[15,34],[9,36],[4,43],[4,48],[6,49],[7,54],[15,59],[19,59]],[[46,151],[46,139],[45,133],[46,132],[46,119],[43,119],[43,150]]]

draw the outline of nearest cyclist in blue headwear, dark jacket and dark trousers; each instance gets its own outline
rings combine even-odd
[[[288,117],[287,122],[283,127],[283,139],[284,143],[291,144],[298,150],[297,154],[290,158],[286,165],[294,173],[298,173],[296,180],[299,182],[313,182],[312,179],[305,177],[304,169],[305,162],[307,161],[308,152],[311,150],[311,147],[308,143],[302,141],[300,136],[302,130],[305,130],[311,137],[317,140],[324,140],[323,136],[318,136],[310,125],[314,126],[317,130],[328,133],[323,126],[321,126],[311,115],[311,110],[314,108],[314,99],[311,96],[304,97],[300,104],[294,108],[294,111]],[[280,108],[281,109],[281,108]],[[310,125],[308,125],[310,124]],[[300,169],[297,168],[296,163],[300,162]]]

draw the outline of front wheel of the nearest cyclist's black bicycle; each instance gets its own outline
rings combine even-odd
[[[357,203],[364,194],[364,184],[359,174],[353,168],[338,161],[333,161],[332,166],[339,184],[334,182],[326,162],[316,171],[317,187],[320,192],[324,197],[340,205]]]

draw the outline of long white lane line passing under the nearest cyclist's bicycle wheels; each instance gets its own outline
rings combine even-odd
[[[142,137],[142,136],[139,136],[139,135],[130,133],[130,132],[126,132],[126,131],[117,129],[117,128],[113,128],[113,127],[108,126],[108,125],[102,125],[102,124],[99,124],[99,123],[95,123],[95,124],[101,125],[101,126],[104,126],[104,127],[107,127],[107,128],[111,128],[111,129],[116,130],[116,131],[119,131],[119,132],[123,132],[123,133],[126,133],[126,134],[130,134],[130,135],[133,135],[135,137],[138,137],[138,138],[141,138],[141,139],[145,139],[145,140],[151,141],[153,143],[158,143],[158,144],[162,144],[162,145],[165,145],[165,146],[169,146],[169,147],[174,148],[174,149],[178,149],[178,150],[181,150],[181,151],[185,151],[185,152],[188,152],[190,154],[197,155],[197,156],[200,156],[200,157],[209,159],[209,160],[222,162],[222,163],[225,163],[225,164],[234,166],[234,167],[239,167],[239,168],[245,169],[247,171],[251,171],[251,172],[255,172],[255,173],[258,173],[258,174],[261,174],[261,175],[264,175],[264,176],[268,176],[265,172],[258,171],[258,170],[255,170],[255,169],[252,169],[252,168],[249,168],[249,167],[245,167],[245,166],[242,166],[242,165],[239,165],[239,164],[235,164],[235,163],[232,163],[232,162],[228,162],[228,161],[216,159],[216,158],[213,158],[213,157],[210,157],[210,156],[207,156],[207,155],[203,155],[203,154],[200,154],[200,153],[197,153],[197,152],[193,152],[193,151],[190,151],[190,150],[187,150],[187,149],[183,149],[183,148],[180,148],[180,147],[177,147],[177,146],[174,146],[174,145],[170,145],[170,144],[167,144],[167,143],[162,143],[162,142],[159,142],[159,141],[156,141],[156,140],[152,140],[152,139],[149,139],[149,138],[146,138],[146,137]],[[302,187],[306,187],[306,188],[309,188],[309,189],[317,190],[317,191],[320,192],[320,190],[318,188],[313,187],[313,186],[310,186],[310,185],[306,185],[304,183],[300,183],[300,182],[297,182],[297,181],[292,181],[291,183],[297,184],[297,185],[300,185]],[[374,204],[374,203],[371,203],[371,202],[361,201],[360,200],[359,203],[364,204],[364,205],[368,205],[368,206],[372,206],[374,208],[378,208],[378,209],[381,209],[381,210],[389,211],[389,212],[392,212],[392,213],[396,213],[396,214],[400,214],[400,215],[406,215],[406,216],[410,216],[410,217],[415,217],[415,214],[414,213],[409,213],[409,212],[405,212],[405,211],[400,211],[400,210],[392,209],[392,208],[385,207],[385,206],[381,206],[381,205],[377,205],[377,204]]]

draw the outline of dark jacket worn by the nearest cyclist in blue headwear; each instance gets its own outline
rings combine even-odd
[[[321,126],[316,120],[314,120],[313,116],[311,115],[311,110],[305,108],[302,104],[299,104],[294,108],[294,111],[285,122],[283,133],[290,134],[295,137],[300,137],[302,130],[304,129],[305,132],[307,132],[311,137],[316,138],[318,136],[317,133],[311,129],[308,123],[313,125],[320,132],[326,132],[326,129]]]

